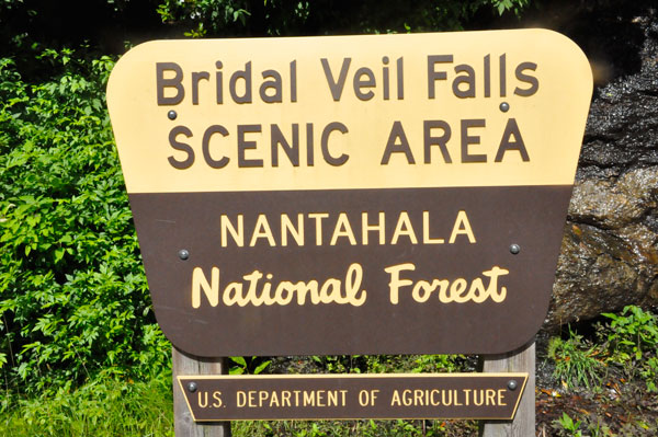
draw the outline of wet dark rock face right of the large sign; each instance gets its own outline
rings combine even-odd
[[[592,3],[571,16],[578,27],[556,27],[581,45],[599,84],[547,329],[631,303],[658,306],[658,4]],[[606,23],[621,33],[609,38]],[[632,53],[601,57],[606,49]]]

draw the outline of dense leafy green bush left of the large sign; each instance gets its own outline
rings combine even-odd
[[[0,59],[0,365],[25,391],[103,369],[144,377],[170,346],[151,314],[105,111],[113,60],[45,49],[25,83]]]

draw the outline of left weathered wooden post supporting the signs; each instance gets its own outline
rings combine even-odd
[[[227,373],[226,358],[201,358],[172,347],[173,430],[175,437],[230,437],[230,422],[195,423],[178,383],[179,375]]]

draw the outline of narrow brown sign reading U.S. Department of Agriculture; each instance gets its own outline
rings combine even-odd
[[[512,419],[527,373],[180,376],[196,422]]]

